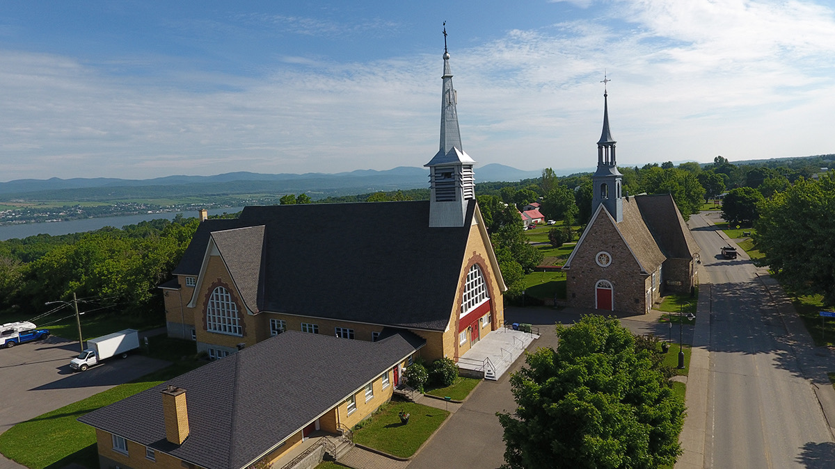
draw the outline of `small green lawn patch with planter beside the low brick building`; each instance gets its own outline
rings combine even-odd
[[[397,412],[411,414],[403,425]],[[393,456],[411,457],[438,430],[449,415],[448,411],[422,406],[414,402],[390,402],[381,406],[370,421],[354,431],[354,442]]]

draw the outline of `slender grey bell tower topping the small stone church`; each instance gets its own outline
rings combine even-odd
[[[609,131],[609,91],[607,84],[611,80],[604,76],[603,91],[603,133],[597,142],[597,171],[592,175],[594,184],[594,195],[591,202],[591,210],[594,212],[597,206],[603,204],[609,214],[616,222],[624,219],[623,198],[621,197],[621,184],[623,174],[618,171],[615,163],[615,142]]]

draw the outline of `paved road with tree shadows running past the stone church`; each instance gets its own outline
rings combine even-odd
[[[721,258],[726,240],[710,216],[717,215],[693,215],[690,223],[701,246],[701,282],[711,283],[704,465],[833,467],[819,457],[820,448],[831,451],[832,435],[797,361],[797,338],[744,251],[736,260]]]

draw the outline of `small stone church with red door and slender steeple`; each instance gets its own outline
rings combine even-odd
[[[623,194],[604,93],[603,133],[592,176],[592,217],[565,262],[567,302],[643,314],[667,291],[696,285],[699,247],[670,194]]]

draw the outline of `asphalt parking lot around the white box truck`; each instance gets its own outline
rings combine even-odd
[[[72,404],[113,386],[134,380],[168,363],[132,354],[113,358],[88,371],[70,370],[69,361],[78,356],[78,341],[51,336],[0,349],[0,433],[21,421]],[[0,469],[22,467],[5,458]]]

